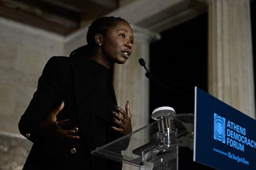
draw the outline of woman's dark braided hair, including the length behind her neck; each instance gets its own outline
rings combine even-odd
[[[77,48],[76,50],[72,51],[70,53],[70,57],[73,57],[74,54],[85,54],[85,51],[90,51],[91,47],[94,45],[97,45],[95,41],[95,35],[101,34],[105,35],[105,33],[108,31],[109,28],[116,26],[116,23],[124,21],[125,23],[128,23],[126,20],[122,19],[121,17],[99,17],[96,20],[91,23],[91,25],[88,28],[86,40],[87,45],[81,46]],[[128,23],[129,24],[129,23]]]

